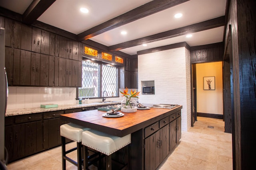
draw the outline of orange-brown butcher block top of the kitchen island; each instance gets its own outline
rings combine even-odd
[[[106,113],[106,111],[91,110],[63,114],[60,115],[60,118],[64,121],[102,131],[110,135],[124,137],[180,109],[182,109],[182,106],[173,109],[151,108],[148,110],[137,110],[134,113],[122,112],[124,114],[122,117],[104,117],[102,114]]]

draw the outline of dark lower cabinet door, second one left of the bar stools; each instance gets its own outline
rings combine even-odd
[[[43,150],[42,121],[25,123],[25,156]]]

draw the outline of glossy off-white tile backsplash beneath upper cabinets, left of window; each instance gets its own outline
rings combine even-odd
[[[76,88],[9,87],[7,109],[76,104]]]

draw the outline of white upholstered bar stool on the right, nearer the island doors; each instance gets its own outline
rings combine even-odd
[[[131,134],[124,137],[116,137],[90,129],[82,132],[82,145],[84,154],[84,165],[88,160],[86,156],[87,147],[97,150],[106,156],[106,170],[111,170],[111,154],[131,143]],[[129,162],[128,162],[129,163]]]

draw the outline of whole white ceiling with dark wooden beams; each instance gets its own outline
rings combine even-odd
[[[222,42],[226,4],[227,0],[0,0],[0,15],[88,45],[99,43],[108,51],[136,55],[181,42]],[[81,7],[89,12],[80,12]],[[176,13],[182,17],[174,18]]]

